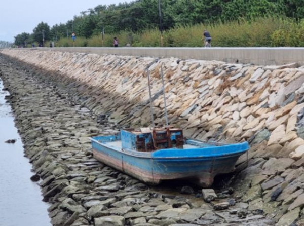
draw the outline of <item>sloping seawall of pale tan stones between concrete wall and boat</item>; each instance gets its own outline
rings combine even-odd
[[[248,140],[251,167],[240,174],[240,187],[247,186],[242,199],[269,215],[284,203],[285,212],[276,213],[276,219],[286,211],[296,216],[294,220],[299,218],[304,205],[304,69],[297,64],[258,66],[35,50],[1,53],[48,71],[94,114],[130,127],[150,124],[146,67],[156,123],[164,124],[162,65],[170,124],[199,139]],[[238,170],[245,166],[246,156]],[[273,200],[277,189],[281,192]]]

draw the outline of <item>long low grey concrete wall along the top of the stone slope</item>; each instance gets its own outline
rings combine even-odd
[[[47,48],[38,48],[46,50]],[[297,62],[304,65],[304,48],[49,48],[52,51],[117,54],[129,56],[176,57],[180,59],[219,60],[229,63],[283,65]]]

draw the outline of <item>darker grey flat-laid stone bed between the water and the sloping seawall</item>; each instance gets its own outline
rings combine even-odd
[[[188,182],[150,187],[97,162],[89,137],[119,128],[100,121],[52,74],[0,55],[0,78],[53,225],[273,225],[262,210],[248,209],[227,177],[217,177],[218,198],[209,203]]]

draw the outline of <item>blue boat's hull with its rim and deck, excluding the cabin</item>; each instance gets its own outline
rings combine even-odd
[[[120,139],[120,135],[91,138],[93,156],[149,184],[189,179],[202,187],[209,187],[217,174],[232,172],[238,158],[249,149],[247,142],[217,146],[188,139],[185,144],[189,148],[138,152],[123,149],[119,145]]]

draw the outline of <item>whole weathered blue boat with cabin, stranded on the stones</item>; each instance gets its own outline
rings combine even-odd
[[[247,142],[223,144],[183,138],[177,128],[141,128],[91,138],[97,160],[148,184],[188,179],[209,187],[218,174],[235,169]]]

